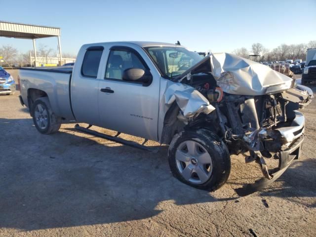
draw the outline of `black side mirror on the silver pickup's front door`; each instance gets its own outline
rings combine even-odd
[[[153,76],[149,70],[144,71],[140,68],[129,68],[123,72],[123,80],[141,82],[143,86],[148,86],[153,81]]]

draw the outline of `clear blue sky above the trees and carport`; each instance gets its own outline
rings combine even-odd
[[[146,40],[176,42],[197,51],[231,52],[261,42],[316,40],[316,0],[12,0],[1,4],[0,20],[61,28],[65,53],[81,44]],[[20,52],[32,40],[0,38]],[[55,38],[37,40],[57,50]]]

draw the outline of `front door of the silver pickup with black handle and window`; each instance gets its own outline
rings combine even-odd
[[[160,75],[156,68],[141,48],[114,46],[104,58],[104,79],[98,90],[101,126],[158,140]],[[152,82],[143,85],[123,80],[124,70],[130,68],[150,71]]]

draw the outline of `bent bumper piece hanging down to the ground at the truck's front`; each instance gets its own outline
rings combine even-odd
[[[286,150],[279,152],[278,170],[275,173],[265,175],[266,178],[256,180],[253,184],[246,184],[242,188],[235,189],[237,195],[244,197],[253,194],[276,181],[284,171],[288,168],[293,159],[298,159],[301,156],[302,144],[304,136],[299,137],[294,143],[291,144]],[[265,168],[265,163],[261,163],[262,169]],[[263,170],[264,171],[264,170]],[[270,176],[270,179],[269,179]]]

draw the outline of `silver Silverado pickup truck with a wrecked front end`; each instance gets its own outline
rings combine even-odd
[[[229,53],[201,57],[180,43],[83,45],[74,67],[21,68],[20,101],[42,134],[61,123],[149,151],[127,133],[169,145],[173,175],[213,191],[228,179],[230,154],[256,161],[264,177],[237,189],[244,196],[269,185],[300,157],[313,92],[265,65]],[[110,136],[92,125],[118,131]],[[144,143],[145,143],[144,142]],[[269,169],[269,158],[279,160]]]

